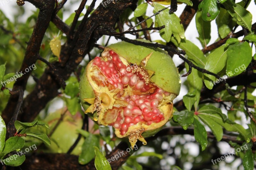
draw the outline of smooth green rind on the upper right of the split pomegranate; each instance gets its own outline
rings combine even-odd
[[[139,39],[138,41],[150,42]],[[140,64],[148,54],[153,52],[145,67],[147,70],[155,71],[155,74],[150,78],[150,82],[166,92],[174,93],[175,97],[180,93],[179,72],[170,55],[164,50],[134,45],[125,41],[112,44],[105,48],[105,51],[109,50],[113,50],[128,62],[137,64]]]

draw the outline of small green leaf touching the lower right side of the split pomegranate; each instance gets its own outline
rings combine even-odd
[[[178,122],[183,129],[187,130],[188,126],[194,122],[194,112],[183,110],[181,112],[173,113],[173,120]]]

